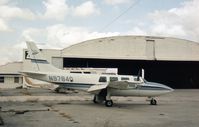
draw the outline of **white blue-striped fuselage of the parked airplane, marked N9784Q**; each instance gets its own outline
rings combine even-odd
[[[46,73],[46,72],[45,72]],[[129,75],[101,75],[78,73],[46,73],[46,75],[29,74],[30,77],[58,84],[65,88],[87,91],[92,85],[107,84],[113,81],[127,81],[135,85],[129,85],[127,89],[110,89],[112,96],[147,96],[154,97],[173,91],[172,88],[159,84],[146,82],[142,78]],[[101,80],[106,79],[106,80]]]

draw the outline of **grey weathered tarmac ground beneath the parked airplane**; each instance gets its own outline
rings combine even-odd
[[[4,127],[199,127],[199,90],[175,90],[157,97],[113,97],[114,106],[94,104],[84,92],[0,89]]]

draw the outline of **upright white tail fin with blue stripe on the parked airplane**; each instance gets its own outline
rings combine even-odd
[[[40,72],[59,72],[62,71],[52,66],[47,59],[43,56],[40,50],[37,48],[34,42],[27,41],[28,58],[30,59],[33,71]]]

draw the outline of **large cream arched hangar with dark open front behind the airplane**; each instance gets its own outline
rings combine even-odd
[[[63,67],[118,68],[173,88],[199,88],[199,43],[170,37],[115,36],[61,50]]]

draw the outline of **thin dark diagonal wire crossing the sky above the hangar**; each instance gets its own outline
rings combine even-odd
[[[112,25],[116,20],[118,20],[121,16],[123,16],[125,13],[127,13],[131,8],[133,8],[135,5],[137,5],[139,3],[140,0],[136,0],[135,2],[132,2],[132,4],[126,9],[124,10],[120,15],[118,15],[117,17],[115,17],[111,22],[109,22],[108,24],[106,24],[104,27],[102,27],[102,29],[100,30],[100,32],[102,32],[103,30],[107,29],[110,25]]]

